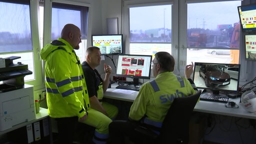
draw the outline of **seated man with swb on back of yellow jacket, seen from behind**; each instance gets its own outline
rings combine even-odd
[[[156,133],[159,133],[158,130],[173,99],[196,92],[196,87],[190,79],[193,63],[185,67],[186,79],[172,72],[175,61],[168,52],[157,52],[154,56],[151,64],[155,79],[141,86],[130,107],[128,121],[115,120],[109,124],[111,143],[125,143],[125,136],[130,139],[141,139],[134,138],[136,137],[134,129],[138,125],[150,125]]]

